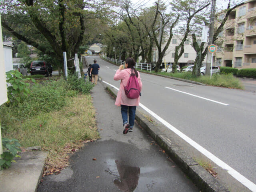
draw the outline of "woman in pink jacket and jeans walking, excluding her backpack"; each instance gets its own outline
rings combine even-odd
[[[119,69],[116,71],[114,80],[121,80],[120,88],[116,97],[115,105],[121,106],[121,115],[123,119],[123,133],[126,134],[128,131],[132,132],[135,120],[136,107],[140,104],[140,97],[135,99],[130,99],[126,96],[124,92],[124,87],[127,85],[130,75],[135,73],[140,90],[142,89],[142,82],[140,80],[140,73],[134,68],[135,61],[133,58],[127,58],[125,60],[125,69],[123,65],[119,66]],[[128,123],[128,109],[129,109],[129,123]]]

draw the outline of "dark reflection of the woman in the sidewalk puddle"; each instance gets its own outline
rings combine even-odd
[[[115,179],[114,184],[123,192],[134,191],[138,185],[140,168],[126,165],[123,161],[115,162],[120,180]]]

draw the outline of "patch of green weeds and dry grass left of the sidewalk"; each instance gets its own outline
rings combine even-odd
[[[23,148],[42,146],[49,152],[47,170],[66,166],[72,149],[80,148],[84,140],[99,138],[88,94],[92,85],[80,83],[80,90],[63,79],[31,84],[24,102],[0,106],[2,136],[16,138]]]

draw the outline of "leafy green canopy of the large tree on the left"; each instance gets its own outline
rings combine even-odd
[[[2,26],[18,39],[63,63],[88,41],[95,20],[110,15],[111,1],[6,0],[1,4]],[[72,62],[68,63],[69,66]]]

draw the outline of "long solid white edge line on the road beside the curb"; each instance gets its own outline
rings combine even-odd
[[[112,84],[109,84],[108,82],[102,81],[106,84],[108,84],[109,86],[112,86],[113,88],[115,88],[116,90],[119,90],[116,86],[113,86]],[[248,189],[250,189],[252,192],[256,192],[256,184],[254,184],[253,182],[251,182],[250,180],[248,180],[246,177],[244,177],[243,175],[241,175],[239,172],[237,172],[236,170],[234,170],[232,167],[230,167],[228,164],[226,164],[225,162],[223,162],[222,160],[220,160],[218,157],[214,156],[214,154],[212,154],[211,152],[209,152],[208,150],[206,150],[205,148],[203,148],[202,146],[200,146],[198,143],[196,143],[194,140],[190,139],[188,136],[186,136],[184,133],[180,132],[178,129],[176,129],[174,126],[172,126],[171,124],[169,124],[166,120],[164,120],[163,118],[161,118],[160,116],[158,116],[157,114],[155,114],[154,112],[152,112],[150,109],[148,109],[146,106],[144,106],[143,104],[140,103],[140,106],[146,110],[149,114],[151,114],[152,116],[154,116],[154,118],[156,118],[157,120],[159,120],[160,122],[162,122],[162,124],[164,124],[167,128],[169,128],[170,130],[172,130],[174,133],[176,133],[178,136],[180,136],[182,139],[184,139],[186,142],[188,142],[191,146],[193,146],[194,148],[196,148],[196,150],[198,150],[199,152],[201,152],[202,154],[204,154],[206,157],[208,157],[210,160],[212,160],[214,163],[216,163],[218,166],[222,167],[223,169],[227,170],[228,173],[234,177],[236,180],[238,180],[241,184],[243,184],[244,186],[246,186]]]

